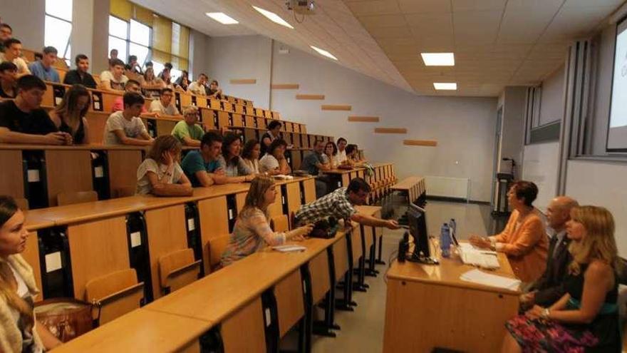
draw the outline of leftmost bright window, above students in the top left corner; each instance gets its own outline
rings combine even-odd
[[[46,0],[46,17],[44,19],[43,45],[53,46],[58,51],[58,57],[70,63],[72,46],[72,1],[73,0]]]

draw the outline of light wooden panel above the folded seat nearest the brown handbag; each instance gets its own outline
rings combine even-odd
[[[95,277],[130,268],[123,216],[68,226],[74,297],[85,299]]]

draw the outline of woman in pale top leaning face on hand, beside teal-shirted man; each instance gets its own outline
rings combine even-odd
[[[190,196],[192,183],[179,165],[181,143],[172,135],[155,139],[146,159],[138,168],[138,195]]]

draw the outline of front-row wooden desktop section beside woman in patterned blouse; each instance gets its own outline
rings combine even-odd
[[[221,322],[264,290],[279,282],[327,247],[343,239],[308,239],[303,252],[266,248],[145,306],[145,309]]]

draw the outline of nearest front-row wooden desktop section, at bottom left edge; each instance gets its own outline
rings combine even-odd
[[[212,324],[192,317],[135,309],[51,352],[177,352]]]

